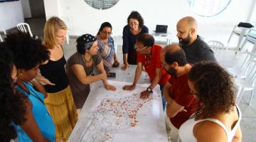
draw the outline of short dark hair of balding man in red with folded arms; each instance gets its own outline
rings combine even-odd
[[[182,48],[178,48],[177,50],[166,50],[164,60],[168,65],[178,62],[179,66],[184,66],[188,63],[186,60],[186,54]]]

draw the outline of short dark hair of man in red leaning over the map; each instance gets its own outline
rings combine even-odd
[[[153,46],[154,45],[154,37],[149,35],[149,33],[142,33],[136,35],[136,41],[142,43],[144,46]]]

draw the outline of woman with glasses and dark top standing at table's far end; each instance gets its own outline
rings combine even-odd
[[[132,11],[127,18],[127,25],[123,29],[123,61],[122,70],[126,70],[130,65],[137,65],[137,52],[134,49],[136,35],[149,33],[149,28],[144,26],[144,19],[137,11]]]

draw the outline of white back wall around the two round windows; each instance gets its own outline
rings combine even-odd
[[[53,0],[44,1],[47,9]],[[114,35],[122,35],[129,13],[135,10],[142,14],[144,23],[150,30],[154,30],[156,24],[169,25],[169,31],[175,39],[177,21],[183,16],[193,16],[198,21],[198,34],[205,40],[226,43],[233,26],[240,21],[247,21],[254,0],[231,0],[228,8],[214,17],[196,15],[188,8],[186,0],[120,0],[117,5],[107,10],[93,9],[84,0],[55,1],[58,2],[58,16],[68,22],[70,35],[96,34],[100,24],[105,21],[112,23]],[[46,18],[51,15],[54,14],[46,10]]]

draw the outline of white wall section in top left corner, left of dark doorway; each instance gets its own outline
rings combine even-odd
[[[24,22],[21,1],[0,3],[0,28],[8,30],[21,22]]]

